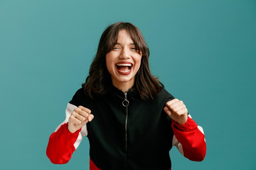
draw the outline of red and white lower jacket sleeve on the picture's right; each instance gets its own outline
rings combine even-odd
[[[198,126],[191,116],[185,124],[178,124],[172,120],[172,128],[174,132],[173,146],[191,161],[202,161],[206,155],[206,143],[204,131]]]

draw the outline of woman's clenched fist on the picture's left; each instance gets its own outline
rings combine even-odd
[[[94,116],[91,114],[90,109],[83,106],[78,106],[78,108],[74,109],[70,115],[70,118],[68,119],[68,130],[71,133],[76,132],[76,130],[79,130],[81,127],[87,124],[88,121],[92,121],[93,117]]]

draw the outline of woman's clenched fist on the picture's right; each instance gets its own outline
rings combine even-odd
[[[188,119],[188,110],[181,100],[173,99],[167,102],[164,111],[179,124],[185,124]]]

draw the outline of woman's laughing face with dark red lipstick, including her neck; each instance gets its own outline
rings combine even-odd
[[[134,85],[141,56],[130,35],[125,30],[119,31],[117,43],[106,54],[107,68],[114,86],[120,90],[127,90]]]

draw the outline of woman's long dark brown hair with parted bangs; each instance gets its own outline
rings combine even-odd
[[[106,54],[115,46],[120,30],[126,30],[135,43],[139,53],[142,53],[139,71],[135,75],[134,90],[142,100],[153,99],[164,85],[150,73],[148,57],[149,49],[139,29],[129,22],[117,22],[108,26],[101,35],[97,53],[90,66],[89,75],[82,87],[90,97],[106,95],[112,84],[110,73],[106,66]]]

